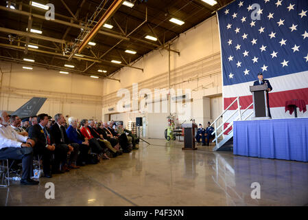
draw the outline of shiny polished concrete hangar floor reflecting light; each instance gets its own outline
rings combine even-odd
[[[147,140],[140,149],[96,165],[0,188],[0,206],[307,206],[308,164],[213,152],[182,151],[183,142]],[[55,199],[45,199],[45,184]],[[259,182],[261,199],[252,199]]]

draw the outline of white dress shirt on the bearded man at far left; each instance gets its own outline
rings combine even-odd
[[[12,126],[3,126],[0,124],[0,149],[5,147],[21,147],[28,137],[20,135]]]

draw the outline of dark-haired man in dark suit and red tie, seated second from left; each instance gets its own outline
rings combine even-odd
[[[48,115],[39,114],[37,117],[38,124],[34,124],[29,129],[29,137],[36,141],[34,146],[34,155],[42,155],[44,177],[51,178],[51,160],[52,156],[61,157],[58,155],[61,151],[55,151],[56,144],[49,129],[47,129]],[[64,153],[65,154],[65,153]],[[58,172],[60,173],[60,172]]]

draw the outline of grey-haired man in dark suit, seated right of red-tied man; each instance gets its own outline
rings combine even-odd
[[[75,165],[75,162],[78,157],[78,144],[72,143],[69,141],[67,137],[67,133],[65,132],[63,124],[65,118],[61,113],[58,113],[54,116],[56,123],[51,126],[50,132],[53,135],[54,140],[56,142],[56,147],[61,148],[62,151],[67,152],[69,154],[69,166],[70,168],[79,168],[79,166]],[[57,161],[58,162],[58,161]],[[67,155],[60,158],[60,164],[62,164],[62,170],[69,172],[69,166],[67,166]]]

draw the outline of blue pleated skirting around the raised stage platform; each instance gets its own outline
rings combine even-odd
[[[235,121],[233,154],[308,162],[308,118]]]

